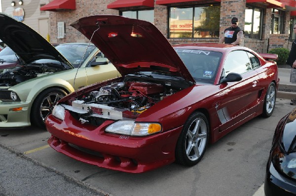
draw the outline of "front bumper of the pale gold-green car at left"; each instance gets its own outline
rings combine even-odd
[[[22,108],[13,112],[12,109]],[[30,126],[29,102],[1,102],[0,101],[0,128]]]

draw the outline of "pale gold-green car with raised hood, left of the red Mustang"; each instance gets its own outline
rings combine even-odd
[[[93,44],[55,48],[24,23],[3,13],[0,18],[0,39],[23,60],[22,66],[0,73],[0,128],[44,127],[44,119],[63,96],[118,76]]]

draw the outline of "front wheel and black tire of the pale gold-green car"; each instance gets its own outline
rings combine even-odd
[[[45,118],[52,113],[54,105],[67,92],[60,88],[47,88],[42,91],[35,99],[31,110],[31,123],[42,129],[45,128]]]

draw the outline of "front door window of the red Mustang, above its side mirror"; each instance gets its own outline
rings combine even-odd
[[[223,65],[225,76],[229,73],[243,74],[252,70],[250,58],[245,51],[233,51],[229,53]]]

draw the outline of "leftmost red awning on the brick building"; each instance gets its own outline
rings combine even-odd
[[[56,12],[59,9],[76,9],[76,2],[75,0],[53,0],[40,7],[41,11]]]

